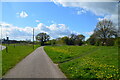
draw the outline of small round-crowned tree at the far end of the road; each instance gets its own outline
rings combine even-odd
[[[50,36],[46,33],[39,33],[36,36],[36,40],[41,42],[41,45],[44,46],[44,42],[48,41],[50,39]]]

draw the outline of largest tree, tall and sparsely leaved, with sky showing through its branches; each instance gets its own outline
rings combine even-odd
[[[97,23],[94,34],[97,39],[102,40],[102,45],[107,45],[108,39],[117,37],[117,29],[112,21],[104,19]]]

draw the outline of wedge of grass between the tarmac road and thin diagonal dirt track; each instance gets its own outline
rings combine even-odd
[[[44,50],[54,63],[62,63],[97,49],[95,46],[46,46]]]

